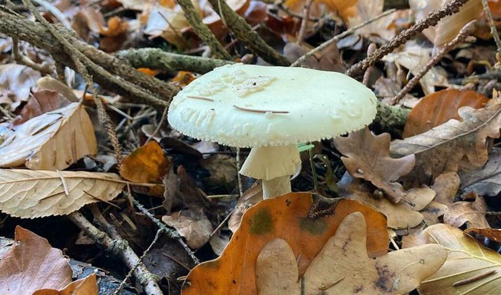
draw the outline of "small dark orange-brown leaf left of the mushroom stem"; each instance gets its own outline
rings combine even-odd
[[[120,176],[132,182],[162,183],[170,165],[160,145],[151,140],[124,159]]]

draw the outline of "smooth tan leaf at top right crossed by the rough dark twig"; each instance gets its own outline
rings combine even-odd
[[[448,2],[450,0],[409,0],[409,6],[416,18],[416,22],[418,22],[428,16],[432,10],[439,9]],[[470,0],[459,8],[458,13],[443,18],[438,22],[438,25],[424,30],[423,34],[433,44],[437,46],[444,45],[452,41],[464,25],[480,17],[481,13],[481,0]]]

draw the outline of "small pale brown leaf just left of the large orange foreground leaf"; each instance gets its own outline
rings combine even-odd
[[[210,239],[212,224],[203,212],[203,208],[188,209],[164,215],[162,221],[174,227],[186,238],[186,243],[193,249],[201,248]]]

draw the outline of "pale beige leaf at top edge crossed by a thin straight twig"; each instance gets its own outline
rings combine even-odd
[[[353,28],[383,13],[384,0],[358,0],[354,6],[355,15],[348,18],[348,28]],[[364,37],[379,36],[385,41],[395,36],[395,29],[391,26],[394,13],[357,30],[357,34]]]

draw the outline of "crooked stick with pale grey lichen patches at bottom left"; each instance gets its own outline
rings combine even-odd
[[[123,239],[112,239],[105,232],[95,227],[80,212],[75,211],[68,215],[68,218],[75,223],[87,236],[92,238],[96,244],[104,248],[107,252],[121,258],[129,269],[136,268],[134,276],[137,282],[143,286],[148,294],[161,295],[162,291],[156,283],[156,277],[153,275],[140,258],[131,249],[127,241]]]

